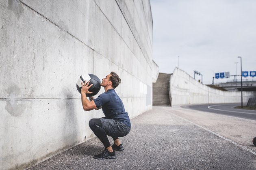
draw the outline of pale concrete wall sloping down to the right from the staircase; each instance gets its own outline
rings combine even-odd
[[[206,104],[241,102],[241,92],[221,91],[199,83],[183,70],[174,69],[170,81],[171,104]],[[243,92],[243,102],[256,96],[255,92]]]

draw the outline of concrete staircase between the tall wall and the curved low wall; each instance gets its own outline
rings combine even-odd
[[[153,83],[153,106],[171,106],[169,98],[169,81],[171,74],[159,73]]]

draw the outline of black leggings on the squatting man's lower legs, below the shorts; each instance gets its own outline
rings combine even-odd
[[[102,123],[101,123],[100,119],[91,119],[89,121],[89,126],[90,126],[91,130],[93,131],[93,133],[97,136],[97,138],[99,138],[100,141],[104,144],[105,148],[111,146],[111,144],[108,140],[108,137],[106,135],[106,132],[102,128]],[[118,139],[117,137],[112,137],[112,138],[114,141],[116,139]]]

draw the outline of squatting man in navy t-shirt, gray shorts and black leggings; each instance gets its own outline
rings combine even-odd
[[[104,118],[91,119],[89,126],[94,134],[104,144],[104,151],[98,155],[94,155],[95,159],[115,159],[115,151],[124,150],[118,137],[126,136],[130,132],[131,123],[128,113],[124,110],[124,104],[115,92],[115,88],[121,83],[121,79],[115,72],[111,72],[105,78],[102,79],[100,84],[104,87],[105,92],[98,98],[90,98],[87,100],[86,94],[91,94],[89,88],[92,86],[82,84],[81,99],[84,110],[89,111],[102,107],[102,111],[105,115]],[[108,136],[111,136],[114,140],[114,144],[111,146]]]

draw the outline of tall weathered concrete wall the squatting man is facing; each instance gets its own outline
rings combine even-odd
[[[1,1],[1,169],[93,137],[88,122],[103,113],[83,111],[81,74],[119,74],[116,91],[133,118],[152,108],[152,69],[149,0]]]

